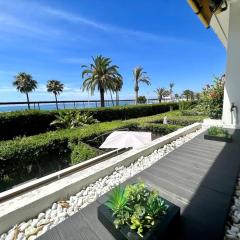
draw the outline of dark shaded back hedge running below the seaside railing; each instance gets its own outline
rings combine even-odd
[[[126,120],[142,116],[150,116],[178,109],[177,103],[161,103],[152,105],[129,105],[106,108],[77,109],[79,112],[89,112],[100,122]],[[69,111],[69,110],[60,110]],[[56,111],[17,111],[0,114],[0,140],[13,139],[18,136],[31,136],[50,129],[50,123],[55,120]]]

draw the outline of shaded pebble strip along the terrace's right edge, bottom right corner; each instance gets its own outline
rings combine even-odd
[[[229,220],[226,225],[225,240],[240,239],[240,174],[233,196],[233,204],[229,212]]]

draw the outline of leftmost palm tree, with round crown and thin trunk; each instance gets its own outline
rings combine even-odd
[[[37,81],[32,79],[31,74],[20,72],[15,76],[15,80],[13,81],[13,86],[15,86],[20,93],[26,94],[28,109],[30,109],[28,93],[32,92],[37,88]]]

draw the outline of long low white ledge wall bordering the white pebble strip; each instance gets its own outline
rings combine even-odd
[[[173,133],[152,141],[143,148],[132,149],[2,203],[0,205],[0,233],[7,231],[16,223],[36,216],[39,212],[47,209],[53,202],[66,199],[78,192],[79,189],[84,188],[103,176],[111,174],[116,167],[129,166],[139,157],[147,156],[179,137],[200,129],[201,126],[201,123],[195,123],[178,129]]]

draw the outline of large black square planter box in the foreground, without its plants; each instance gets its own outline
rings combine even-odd
[[[161,216],[152,229],[144,234],[143,238],[137,232],[131,230],[128,225],[123,225],[121,228],[116,229],[113,224],[114,217],[112,216],[112,210],[105,206],[105,204],[98,207],[98,219],[117,240],[169,240],[173,234],[177,233],[179,228],[180,208],[165,199],[163,200],[169,206],[166,215]]]

